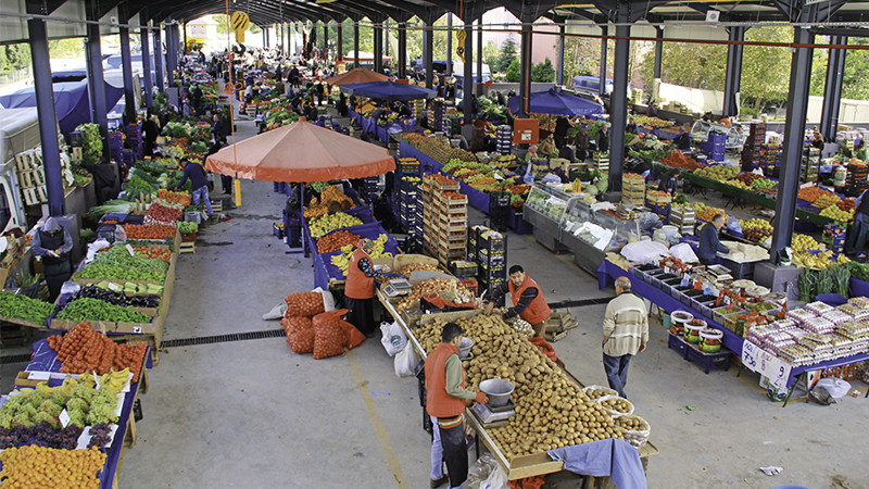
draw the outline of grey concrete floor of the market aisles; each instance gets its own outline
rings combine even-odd
[[[253,133],[251,122],[239,122],[239,138]],[[284,198],[270,183],[242,181],[242,200],[228,212],[231,221],[203,228],[196,254],[181,255],[164,339],[279,328],[262,314],[312,287],[311,260],[286,254],[272,236]],[[599,290],[569,255],[555,256],[527,236],[509,235],[508,262],[525,265],[550,301],[613,293]],[[606,381],[604,309],[572,309],[579,326],[555,343],[589,385]],[[651,337],[631,363],[627,388],[660,450],[648,464],[650,488],[869,487],[862,396],[782,409],[767,400],[756,374],[705,375],[667,349],[660,326]],[[23,367],[2,365],[3,391]],[[430,439],[420,427],[416,380],[393,374],[377,339],[320,361],[293,354],[282,338],[174,348],[149,375],[122,488],[428,487]],[[768,465],[784,471],[768,477],[758,471]],[[847,486],[833,482],[840,476]]]

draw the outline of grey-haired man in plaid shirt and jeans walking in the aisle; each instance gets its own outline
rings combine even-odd
[[[604,317],[604,371],[609,388],[625,396],[631,356],[648,343],[648,314],[642,299],[631,293],[628,277],[616,279],[616,298],[606,305]]]

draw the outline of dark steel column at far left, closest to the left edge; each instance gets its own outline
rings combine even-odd
[[[61,155],[58,143],[58,114],[54,112],[54,90],[51,86],[51,59],[48,52],[46,22],[39,18],[27,21],[30,40],[30,58],[34,67],[34,91],[36,111],[39,114],[39,139],[42,145],[42,167],[46,172],[49,215],[64,214],[63,180],[61,179]],[[102,63],[102,59],[100,59]],[[102,67],[102,64],[100,64]]]

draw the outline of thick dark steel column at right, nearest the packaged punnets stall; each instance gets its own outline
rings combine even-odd
[[[808,29],[794,28],[794,43],[810,45],[814,38],[815,36]],[[794,234],[813,51],[809,48],[794,48],[791,55],[791,86],[788,93],[788,115],[784,122],[781,179],[779,180],[779,196],[776,199],[776,218],[772,221],[770,260],[773,263],[778,263],[784,253],[784,248],[791,246]]]

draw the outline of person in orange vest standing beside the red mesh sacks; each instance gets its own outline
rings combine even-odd
[[[347,321],[366,338],[373,338],[377,325],[374,322],[374,279],[380,273],[374,269],[370,253],[374,241],[361,239],[358,248],[350,256],[344,286],[344,303],[350,313]]]

